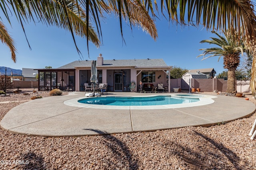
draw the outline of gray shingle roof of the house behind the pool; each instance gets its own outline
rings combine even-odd
[[[66,64],[59,68],[74,68],[74,67],[90,67],[92,61],[74,61],[72,63]],[[136,66],[136,67],[168,67],[163,59],[136,59],[136,60],[104,60],[103,65],[100,67],[127,67],[127,66]]]

